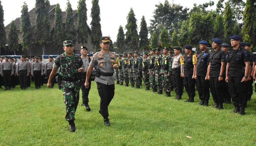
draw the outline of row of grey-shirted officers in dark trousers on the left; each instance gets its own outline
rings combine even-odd
[[[24,55],[20,57],[19,62],[14,62],[15,59],[5,56],[5,61],[0,58],[0,82],[5,87],[5,91],[15,88],[20,84],[20,89],[30,87],[31,80],[35,82],[35,89],[41,88],[44,84],[44,75],[49,78],[53,66],[53,57],[49,56],[49,61],[45,64],[39,57],[33,57],[32,62]],[[17,61],[17,59],[16,59]],[[52,88],[54,81],[52,82]]]

